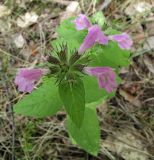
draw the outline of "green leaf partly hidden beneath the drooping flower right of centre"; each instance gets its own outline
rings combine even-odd
[[[96,102],[99,99],[107,99],[113,97],[115,93],[107,93],[105,89],[100,89],[97,79],[92,76],[84,76],[83,83],[85,88],[85,101],[86,103]]]

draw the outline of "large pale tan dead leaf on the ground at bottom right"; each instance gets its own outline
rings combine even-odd
[[[134,136],[130,130],[125,128],[113,133],[114,136],[109,135],[105,140],[102,140],[101,150],[106,148],[120,155],[125,160],[148,160],[147,150],[140,139]]]

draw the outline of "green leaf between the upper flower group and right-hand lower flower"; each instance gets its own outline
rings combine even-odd
[[[96,45],[90,51],[91,66],[110,66],[119,68],[129,65],[130,52],[121,49],[116,42],[107,46]]]

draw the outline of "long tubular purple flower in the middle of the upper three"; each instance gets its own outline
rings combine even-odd
[[[98,25],[93,25],[88,29],[88,34],[79,48],[79,53],[83,53],[95,43],[108,44],[108,37],[104,35]]]

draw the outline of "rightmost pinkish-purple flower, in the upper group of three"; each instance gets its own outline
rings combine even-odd
[[[111,40],[118,42],[119,47],[122,49],[130,49],[133,44],[133,41],[131,40],[131,38],[127,33],[112,35],[109,36],[109,38]]]

